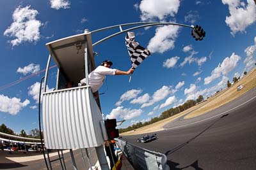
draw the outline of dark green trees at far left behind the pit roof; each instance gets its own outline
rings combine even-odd
[[[20,136],[20,137],[25,137],[25,138],[36,138],[40,139],[40,131],[38,129],[32,129],[29,134],[27,134],[24,129],[20,131],[20,134],[16,134],[13,132],[12,129],[7,127],[5,124],[0,125],[0,132],[6,133],[6,134],[12,134],[14,136]]]

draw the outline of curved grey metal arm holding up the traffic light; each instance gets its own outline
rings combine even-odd
[[[131,27],[129,29],[123,30],[122,26],[127,26],[127,25],[139,25],[139,26]],[[107,29],[113,29],[113,28],[116,28],[116,27],[120,28],[119,32],[116,32],[115,34],[111,34],[110,36],[107,36],[106,38],[100,39],[96,43],[93,43],[92,46],[98,45],[99,43],[102,43],[103,41],[106,41],[107,39],[113,38],[114,36],[117,36],[117,35],[122,34],[124,32],[132,31],[134,29],[139,29],[139,28],[142,28],[142,27],[155,26],[155,25],[179,25],[179,26],[182,26],[182,27],[190,27],[192,29],[194,27],[193,25],[184,25],[184,24],[177,24],[177,23],[172,23],[172,22],[133,22],[133,23],[127,23],[127,24],[113,25],[113,26],[110,26],[110,27],[104,27],[102,29],[97,29],[95,31],[91,31],[91,34],[92,34],[92,33],[95,33],[95,32],[104,31],[104,30],[107,30]]]

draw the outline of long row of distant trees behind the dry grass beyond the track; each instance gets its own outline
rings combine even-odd
[[[138,122],[137,124],[130,125],[129,127],[121,128],[121,129],[119,129],[119,132],[120,133],[128,132],[128,131],[138,129],[138,128],[146,126],[146,125],[154,124],[160,120],[164,120],[165,118],[172,117],[182,111],[188,110],[189,108],[195,106],[198,103],[201,103],[202,101],[204,101],[204,97],[202,95],[200,95],[200,96],[198,96],[198,98],[196,100],[188,100],[180,106],[177,106],[175,108],[170,108],[166,111],[163,111],[163,113],[161,113],[161,115],[159,117],[151,118],[151,120],[144,122],[144,123]]]

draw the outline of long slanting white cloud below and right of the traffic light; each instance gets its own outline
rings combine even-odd
[[[221,64],[219,64],[211,73],[211,76],[207,76],[204,79],[204,84],[207,85],[211,81],[219,78],[221,75],[227,75],[234,67],[237,66],[237,62],[241,59],[239,55],[232,53],[230,57],[226,57]]]

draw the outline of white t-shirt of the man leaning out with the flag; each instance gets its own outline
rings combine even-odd
[[[96,92],[102,86],[105,75],[115,75],[116,69],[111,69],[105,66],[98,66],[95,70],[93,70],[89,75],[89,85],[92,88],[92,92]],[[86,83],[86,79],[80,81],[81,83]]]

